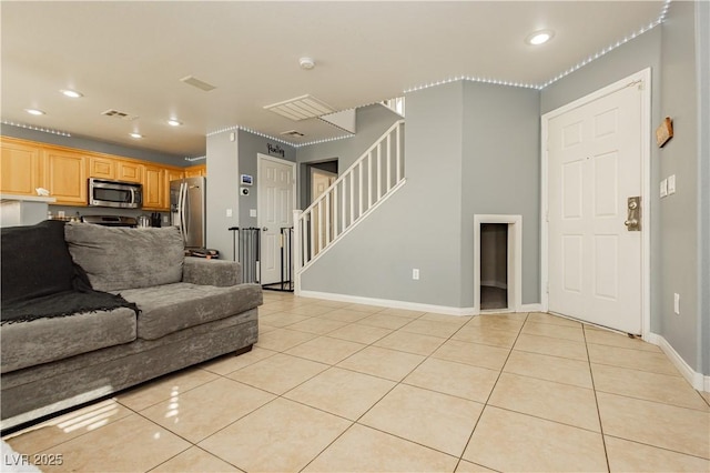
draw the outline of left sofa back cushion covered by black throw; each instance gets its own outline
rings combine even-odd
[[[74,266],[64,242],[64,222],[3,228],[0,238],[2,303],[73,289]]]

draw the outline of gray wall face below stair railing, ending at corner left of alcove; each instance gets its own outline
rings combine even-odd
[[[407,95],[407,183],[304,272],[303,290],[459,306],[462,97],[462,82]]]

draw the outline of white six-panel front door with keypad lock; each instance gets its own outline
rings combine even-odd
[[[635,334],[646,229],[625,221],[642,190],[641,101],[636,83],[548,122],[549,310]]]

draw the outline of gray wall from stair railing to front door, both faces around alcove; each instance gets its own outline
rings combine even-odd
[[[473,308],[474,214],[504,213],[524,218],[523,302],[539,302],[539,92],[463,81],[413,92],[405,128],[406,185],[302,289]]]

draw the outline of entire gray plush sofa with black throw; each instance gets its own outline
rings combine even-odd
[[[257,341],[261,286],[176,228],[2,229],[1,262],[3,431]]]

